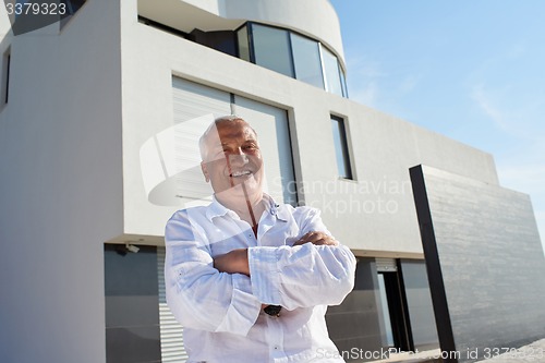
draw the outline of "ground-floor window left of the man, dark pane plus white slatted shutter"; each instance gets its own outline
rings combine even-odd
[[[107,362],[185,362],[183,327],[167,305],[165,247],[105,244]]]

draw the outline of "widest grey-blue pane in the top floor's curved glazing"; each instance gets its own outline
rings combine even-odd
[[[255,64],[293,77],[288,31],[252,24]]]

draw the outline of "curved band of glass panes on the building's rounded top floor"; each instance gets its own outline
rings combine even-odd
[[[237,40],[241,59],[348,97],[339,60],[319,41],[252,22],[237,31]]]

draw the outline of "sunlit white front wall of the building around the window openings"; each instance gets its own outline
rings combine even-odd
[[[302,182],[300,201],[320,207],[331,232],[362,256],[422,256],[410,167],[425,162],[497,184],[494,160],[486,153],[140,24],[135,0],[123,1],[122,7],[128,234],[161,237],[165,221],[175,209],[147,201],[138,160],[143,143],[173,125],[172,75],[288,110],[295,174]],[[347,120],[355,181],[337,177],[331,113]]]

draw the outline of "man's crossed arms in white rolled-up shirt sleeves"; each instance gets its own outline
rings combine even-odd
[[[313,208],[294,213],[303,234],[295,242],[235,247],[215,258],[210,227],[195,219],[178,213],[166,230],[167,301],[185,327],[246,336],[263,304],[289,311],[336,305],[353,288],[352,252],[327,235]]]

